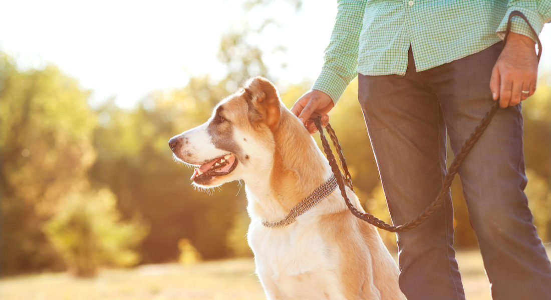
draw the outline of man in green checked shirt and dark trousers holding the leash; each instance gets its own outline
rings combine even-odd
[[[536,89],[542,1],[338,1],[325,64],[291,111],[311,133],[358,74],[359,102],[392,221],[413,219],[446,172],[446,132],[457,153],[480,119],[501,109],[460,168],[469,217],[494,299],[551,299],[551,265],[526,195],[520,102]],[[493,100],[493,101],[492,101]],[[449,195],[443,209],[398,234],[400,287],[413,299],[464,299]]]

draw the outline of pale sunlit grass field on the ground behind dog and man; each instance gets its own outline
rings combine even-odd
[[[468,300],[489,300],[489,283],[477,250],[457,254]],[[102,270],[95,279],[44,273],[0,280],[2,300],[264,299],[252,259],[196,265],[144,265]]]

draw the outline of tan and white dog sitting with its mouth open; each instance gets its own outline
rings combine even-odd
[[[406,299],[376,228],[350,214],[338,188],[294,221],[267,226],[332,177],[314,139],[267,79],[247,81],[206,123],[169,145],[176,160],[195,167],[198,187],[245,182],[247,239],[268,299]],[[347,195],[361,208],[348,187]]]

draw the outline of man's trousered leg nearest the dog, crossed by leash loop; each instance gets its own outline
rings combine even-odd
[[[412,70],[359,75],[359,102],[392,221],[410,221],[435,198],[446,171],[446,130],[433,92]],[[409,300],[464,299],[451,197],[425,223],[398,234],[400,288]]]

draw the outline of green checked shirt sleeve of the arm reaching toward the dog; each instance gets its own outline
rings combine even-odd
[[[356,67],[365,2],[366,0],[338,1],[337,19],[325,50],[325,63],[312,86],[312,90],[329,95],[333,103],[337,103],[358,73]]]

